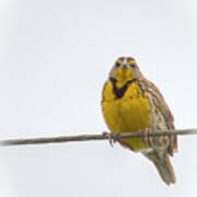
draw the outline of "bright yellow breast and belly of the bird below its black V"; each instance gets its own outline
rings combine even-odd
[[[108,81],[103,91],[103,115],[113,132],[134,132],[150,127],[150,105],[146,93],[132,82],[121,97],[116,96]],[[147,149],[139,138],[121,139],[120,142],[135,151]]]

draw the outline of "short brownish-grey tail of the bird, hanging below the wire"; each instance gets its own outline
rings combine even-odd
[[[167,153],[162,153],[160,151],[153,151],[144,153],[144,155],[153,162],[161,178],[167,184],[174,184],[176,182],[175,173]]]

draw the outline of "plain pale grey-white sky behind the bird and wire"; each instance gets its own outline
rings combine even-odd
[[[0,137],[101,134],[101,92],[137,59],[177,128],[197,127],[196,0],[1,0]],[[196,197],[197,138],[178,138],[177,183],[107,141],[0,148],[1,197]]]

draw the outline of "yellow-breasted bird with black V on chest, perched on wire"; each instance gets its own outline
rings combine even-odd
[[[151,138],[148,135],[175,130],[174,117],[159,89],[143,77],[135,58],[119,57],[114,62],[102,92],[102,113],[112,135],[144,134],[142,138],[117,138],[117,141],[148,158],[166,185],[176,182],[170,157],[177,152],[177,136]]]

